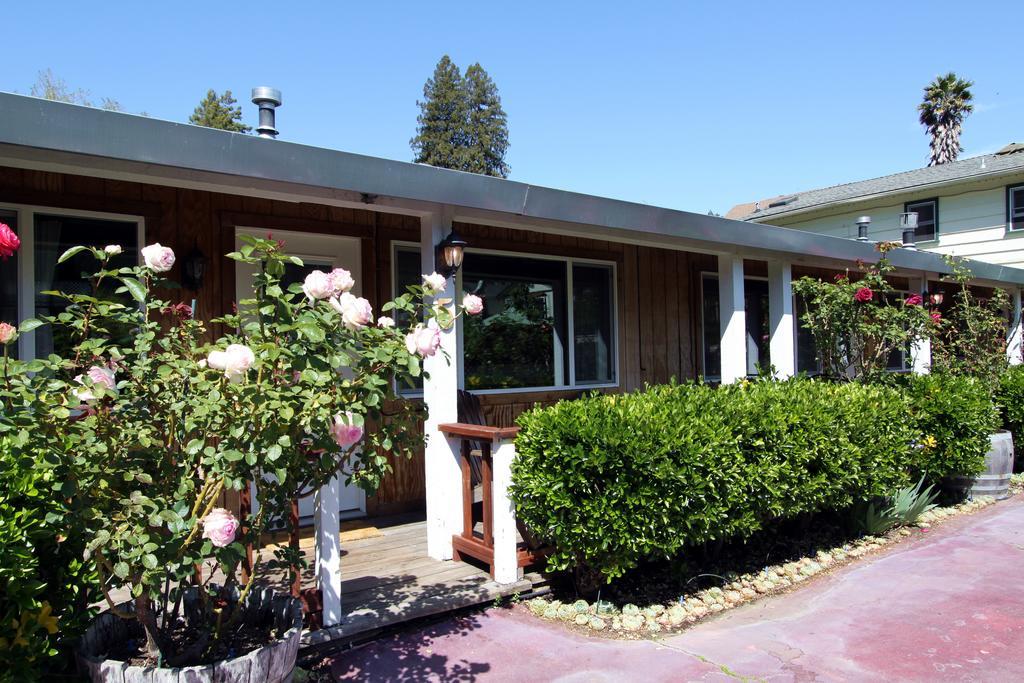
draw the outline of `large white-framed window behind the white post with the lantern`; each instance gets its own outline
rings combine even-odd
[[[420,283],[419,249],[395,248],[395,291]],[[617,382],[614,266],[573,258],[467,250],[462,291],[483,312],[462,318],[470,391]]]

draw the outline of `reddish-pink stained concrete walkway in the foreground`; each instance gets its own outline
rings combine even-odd
[[[656,640],[489,609],[335,657],[367,681],[1024,681],[1024,497]]]

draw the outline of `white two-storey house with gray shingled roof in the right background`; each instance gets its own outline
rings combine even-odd
[[[918,214],[916,247],[1024,266],[1024,144],[905,173],[739,204],[728,218],[840,238],[900,241],[899,214]]]

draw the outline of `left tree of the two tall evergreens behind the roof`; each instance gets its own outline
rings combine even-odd
[[[423,100],[416,102],[420,116],[416,137],[410,140],[417,164],[463,170],[466,148],[466,96],[462,74],[449,55],[441,57],[434,75],[423,86]]]

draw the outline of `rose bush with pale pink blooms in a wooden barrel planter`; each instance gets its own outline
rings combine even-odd
[[[19,329],[53,326],[66,348],[30,362],[5,354],[0,373],[2,431],[14,434],[15,455],[48,470],[65,514],[84,529],[82,558],[106,603],[81,660],[96,681],[136,666],[153,680],[178,680],[183,668],[188,680],[243,671],[286,680],[301,608],[256,588],[267,567],[247,566],[246,546],[297,496],[339,473],[373,492],[388,469],[380,451],[422,443],[417,409],[396,387],[422,373],[460,313],[449,300],[424,302],[443,288],[436,273],[383,306],[400,311],[406,329],[374,321],[341,268],[285,290],[286,264],[301,261],[254,238],[228,256],[257,266],[255,295],[214,321],[228,333],[210,344],[188,306],[154,294],[171,285],[162,275],[173,252],[150,245],[143,265],[115,267],[120,252],[61,255],[97,260],[88,293],[50,293],[66,308]],[[250,481],[260,482],[259,512],[241,520],[225,495]],[[268,566],[298,562],[285,548]]]

